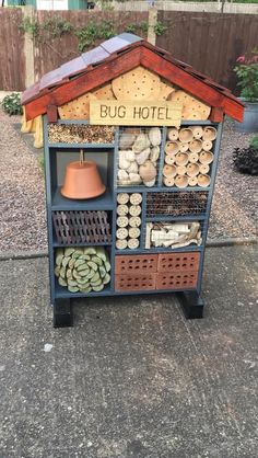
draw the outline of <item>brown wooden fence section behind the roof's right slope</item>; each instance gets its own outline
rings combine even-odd
[[[167,30],[156,45],[236,90],[236,58],[258,46],[258,15],[159,11]]]

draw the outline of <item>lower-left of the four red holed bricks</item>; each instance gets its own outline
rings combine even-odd
[[[141,291],[155,289],[156,274],[122,274],[115,276],[116,291]]]

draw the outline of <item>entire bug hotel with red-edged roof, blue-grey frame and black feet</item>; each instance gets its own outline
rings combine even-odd
[[[178,293],[202,317],[204,248],[225,88],[128,33],[45,75],[22,99],[44,116],[54,325],[71,299]]]

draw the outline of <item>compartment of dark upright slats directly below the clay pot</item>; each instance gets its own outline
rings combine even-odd
[[[59,244],[112,243],[112,211],[52,211],[52,226]]]

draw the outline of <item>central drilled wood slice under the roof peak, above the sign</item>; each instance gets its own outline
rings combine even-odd
[[[161,79],[143,67],[115,78],[112,82],[117,100],[159,100]]]

